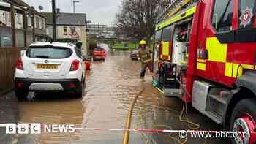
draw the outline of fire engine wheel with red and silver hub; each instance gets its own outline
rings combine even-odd
[[[230,119],[230,131],[233,144],[256,143],[256,103],[255,99],[243,99],[233,109]]]

